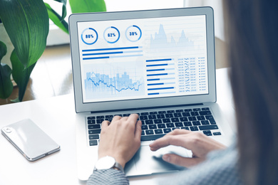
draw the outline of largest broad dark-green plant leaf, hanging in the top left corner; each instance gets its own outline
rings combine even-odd
[[[48,14],[42,0],[0,1],[0,18],[25,68],[46,48]]]

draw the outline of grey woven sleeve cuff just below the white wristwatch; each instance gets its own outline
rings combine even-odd
[[[98,184],[129,184],[128,178],[118,169],[102,169],[93,171],[87,181],[87,185]]]

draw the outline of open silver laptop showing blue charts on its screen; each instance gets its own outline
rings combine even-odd
[[[212,8],[73,14],[69,30],[79,179],[92,174],[101,122],[115,115],[137,113],[143,122],[127,176],[184,169],[161,157],[191,157],[190,150],[148,146],[173,129],[230,144],[232,130],[216,103]]]

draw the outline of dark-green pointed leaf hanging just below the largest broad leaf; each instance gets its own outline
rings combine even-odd
[[[22,101],[24,97],[30,75],[35,65],[36,63],[33,63],[29,68],[25,68],[25,66],[19,60],[19,57],[17,56],[15,49],[11,52],[11,66],[13,68],[12,75],[14,81],[19,87],[19,101]]]

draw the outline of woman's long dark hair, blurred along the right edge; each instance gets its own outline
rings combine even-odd
[[[277,0],[224,1],[245,184],[278,184],[277,5]]]

